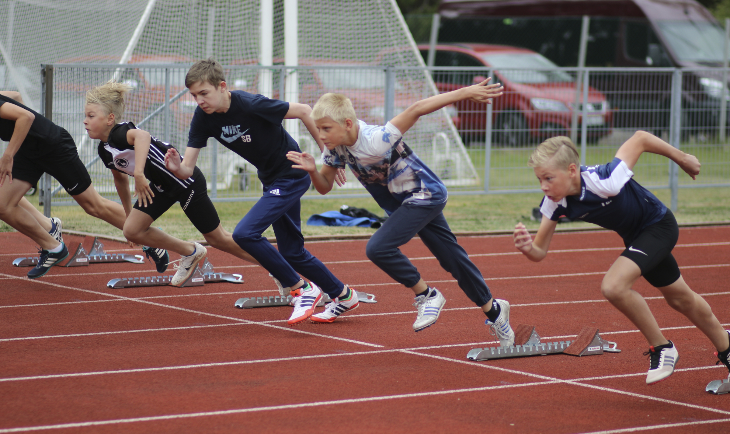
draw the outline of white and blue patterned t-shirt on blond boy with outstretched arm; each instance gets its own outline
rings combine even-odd
[[[410,151],[403,134],[392,123],[368,125],[358,121],[358,140],[352,146],[339,145],[322,153],[322,163],[337,169],[350,167],[360,183],[381,208],[392,195],[400,204],[412,202],[437,205],[446,202],[448,193],[439,177]],[[372,188],[387,186],[387,189]]]

